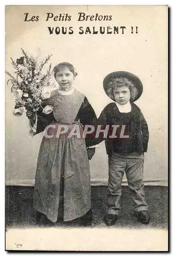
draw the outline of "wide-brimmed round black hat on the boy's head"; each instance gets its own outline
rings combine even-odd
[[[136,75],[134,75],[132,73],[126,72],[126,71],[116,71],[116,72],[110,73],[109,75],[107,75],[104,78],[103,88],[104,88],[104,91],[107,94],[107,96],[109,96],[112,100],[115,101],[112,86],[110,84],[110,82],[115,78],[127,78],[129,81],[131,81],[138,90],[138,93],[137,93],[137,95],[135,95],[135,98],[131,99],[131,100],[135,101],[135,100],[139,99],[139,97],[141,96],[141,94],[143,92],[143,84],[142,84],[141,80],[139,79],[139,77],[137,77]]]

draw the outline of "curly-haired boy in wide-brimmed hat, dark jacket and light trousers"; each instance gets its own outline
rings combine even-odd
[[[134,103],[142,94],[142,82],[134,74],[118,71],[104,78],[103,88],[115,102],[105,106],[98,124],[103,127],[107,124],[110,127],[117,125],[116,136],[112,134],[105,140],[106,151],[109,155],[109,184],[108,210],[104,222],[111,226],[115,224],[120,214],[121,183],[125,172],[137,219],[143,224],[148,224],[149,216],[143,185],[143,162],[149,134],[146,120]],[[121,131],[122,127],[125,127],[124,133]]]

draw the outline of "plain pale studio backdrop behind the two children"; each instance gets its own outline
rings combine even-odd
[[[71,21],[58,22],[47,14],[70,15]],[[78,13],[112,15],[111,21],[79,22]],[[24,22],[25,13],[39,16],[38,22]],[[79,27],[93,30],[125,26],[124,34],[79,34]],[[134,33],[131,33],[131,27]],[[136,26],[138,33],[135,33]],[[74,33],[51,34],[48,27],[73,27]],[[167,7],[166,6],[7,6],[6,71],[23,48],[38,59],[52,54],[52,67],[71,62],[78,73],[75,87],[84,93],[97,117],[112,100],[106,96],[102,82],[113,71],[128,71],[139,76],[143,94],[135,102],[148,123],[149,143],[145,153],[145,184],[166,185],[167,180]],[[39,49],[39,50],[38,50]],[[48,66],[47,66],[48,67]],[[33,185],[42,134],[31,138],[24,114],[12,115],[14,109],[11,84],[6,76],[6,184]],[[107,184],[108,164],[104,142],[90,161],[92,184]],[[125,182],[124,177],[124,182]],[[125,184],[125,183],[124,183]]]

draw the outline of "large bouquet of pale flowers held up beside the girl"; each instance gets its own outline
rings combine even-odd
[[[11,58],[16,78],[9,72],[6,72],[10,76],[7,83],[11,81],[11,92],[14,94],[15,99],[13,114],[21,116],[25,109],[32,112],[41,109],[45,114],[49,114],[52,112],[53,107],[47,105],[45,108],[42,108],[41,104],[44,99],[50,97],[51,90],[49,87],[55,87],[55,82],[51,80],[51,64],[46,74],[43,74],[42,69],[52,55],[38,63],[22,48],[21,52],[23,56],[17,58],[16,61]]]

